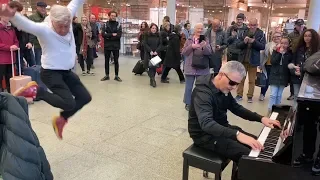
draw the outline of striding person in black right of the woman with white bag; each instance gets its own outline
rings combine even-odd
[[[162,83],[169,83],[167,76],[171,68],[177,71],[180,82],[181,83],[185,82],[183,73],[180,69],[180,60],[181,60],[180,41],[181,41],[181,26],[176,25],[174,26],[174,31],[169,35],[167,53],[163,62],[163,66],[165,68],[161,76]]]

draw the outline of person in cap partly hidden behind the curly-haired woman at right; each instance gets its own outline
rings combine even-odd
[[[296,50],[296,45],[299,41],[299,38],[304,30],[307,28],[305,27],[304,20],[303,19],[297,19],[294,23],[294,30],[292,33],[290,33],[289,39],[290,39],[290,47],[293,51]],[[287,98],[287,100],[293,100],[294,99],[294,89],[292,83],[290,83],[290,96]]]

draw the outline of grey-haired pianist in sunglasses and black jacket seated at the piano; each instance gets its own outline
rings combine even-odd
[[[218,75],[198,78],[192,92],[188,130],[195,145],[209,149],[238,163],[251,149],[262,150],[263,146],[240,127],[228,122],[227,110],[233,114],[265,126],[280,127],[280,122],[252,112],[236,102],[230,93],[245,78],[244,66],[237,61],[229,61],[222,66]]]

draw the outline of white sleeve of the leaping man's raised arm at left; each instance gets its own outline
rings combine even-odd
[[[45,32],[45,25],[43,23],[33,22],[20,13],[16,13],[10,19],[10,22],[12,22],[12,24],[14,24],[18,29],[35,36],[41,36]]]

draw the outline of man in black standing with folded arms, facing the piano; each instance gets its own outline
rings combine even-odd
[[[114,80],[121,82],[119,77],[119,50],[120,50],[120,39],[122,36],[122,27],[120,22],[116,21],[118,16],[117,12],[109,12],[109,21],[106,22],[102,27],[102,37],[104,38],[104,58],[105,58],[105,77],[101,81],[110,80],[109,76],[109,60],[111,52],[114,56]]]

